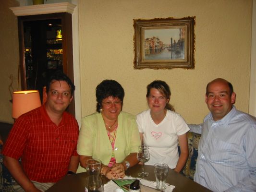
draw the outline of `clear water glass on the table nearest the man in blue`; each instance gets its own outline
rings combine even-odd
[[[157,180],[157,189],[164,190],[166,188],[165,182],[168,175],[169,167],[166,163],[156,163],[154,165],[154,172]]]

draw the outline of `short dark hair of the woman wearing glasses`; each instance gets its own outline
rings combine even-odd
[[[104,80],[96,87],[96,110],[99,113],[102,100],[109,96],[118,97],[121,101],[123,101],[124,90],[122,88],[122,85],[115,80]]]

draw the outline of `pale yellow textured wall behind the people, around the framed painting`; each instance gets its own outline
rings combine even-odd
[[[95,87],[114,79],[125,90],[123,110],[145,110],[146,85],[171,86],[171,104],[188,123],[207,114],[206,84],[226,78],[236,107],[248,112],[251,0],[79,0],[82,116],[96,109]],[[133,19],[196,16],[195,70],[134,70]],[[79,74],[76,74],[79,75]]]

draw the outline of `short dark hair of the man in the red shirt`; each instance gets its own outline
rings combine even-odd
[[[75,86],[73,84],[73,82],[71,81],[71,79],[63,72],[61,71],[57,71],[54,72],[48,79],[47,84],[46,84],[46,92],[49,92],[50,89],[50,84],[52,84],[52,81],[65,81],[67,82],[67,84],[70,87],[70,91],[71,91],[71,96],[73,96],[74,94],[74,90],[75,90]]]

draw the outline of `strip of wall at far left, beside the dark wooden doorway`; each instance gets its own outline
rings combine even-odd
[[[19,42],[17,17],[9,7],[19,6],[15,0],[1,0],[0,6],[0,121],[13,123],[12,95],[9,92],[10,76],[13,76],[12,87],[17,90]],[[12,90],[12,89],[11,89]]]

